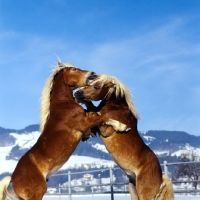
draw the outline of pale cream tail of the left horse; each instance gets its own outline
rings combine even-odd
[[[0,200],[18,199],[8,188],[10,182],[11,176],[6,176],[0,181]]]

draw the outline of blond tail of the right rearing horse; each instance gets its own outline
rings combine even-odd
[[[172,182],[170,179],[163,175],[162,176],[163,182],[160,187],[160,190],[156,197],[154,198],[155,200],[174,200],[174,189]]]

